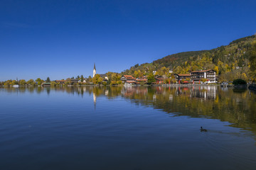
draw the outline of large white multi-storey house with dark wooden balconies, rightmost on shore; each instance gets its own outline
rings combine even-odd
[[[200,82],[201,79],[207,79],[208,83],[215,83],[216,72],[213,69],[193,71],[191,72],[191,79],[194,82]]]

